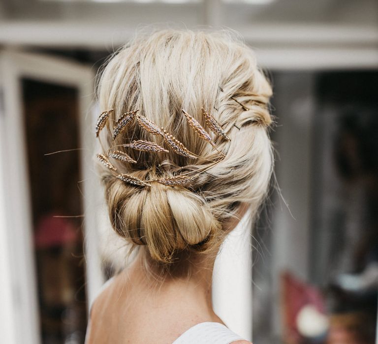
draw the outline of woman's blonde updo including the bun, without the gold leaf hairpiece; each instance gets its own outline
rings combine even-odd
[[[189,127],[182,109],[204,125],[203,107],[231,140],[213,135],[226,156],[188,187],[133,186],[99,165],[113,229],[133,246],[145,245],[151,261],[161,266],[180,257],[218,252],[225,224],[241,202],[251,204],[255,213],[266,195],[273,165],[266,106],[271,95],[252,50],[227,31],[159,30],[137,35],[116,52],[98,83],[101,111],[114,109],[110,126],[100,134],[104,151],[112,143],[111,124],[140,109],[139,114],[204,157],[129,150],[137,163],[114,161],[121,173],[143,180],[169,177],[203,168],[219,155]],[[118,135],[115,144],[130,140],[164,145],[160,137],[137,126]]]

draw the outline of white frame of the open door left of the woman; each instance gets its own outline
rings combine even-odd
[[[94,206],[92,139],[93,71],[67,60],[0,51],[0,333],[6,343],[40,343],[32,214],[22,109],[21,78],[73,86],[78,90],[84,210]],[[42,154],[43,152],[41,152]],[[93,214],[93,213],[92,213]],[[94,216],[85,218],[87,297],[101,286]]]

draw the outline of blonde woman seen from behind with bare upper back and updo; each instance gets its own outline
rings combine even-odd
[[[88,344],[249,343],[214,313],[212,272],[266,195],[271,94],[225,31],[157,31],[108,61],[97,158],[113,229],[137,252],[96,298]]]

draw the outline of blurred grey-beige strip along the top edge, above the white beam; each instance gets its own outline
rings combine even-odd
[[[177,3],[182,2],[182,3]],[[2,0],[3,20],[81,20],[135,25],[180,22],[344,23],[378,25],[376,0]]]

